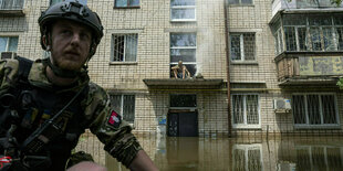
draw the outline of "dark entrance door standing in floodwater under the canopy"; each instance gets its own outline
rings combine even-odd
[[[168,136],[198,137],[198,113],[169,113]]]

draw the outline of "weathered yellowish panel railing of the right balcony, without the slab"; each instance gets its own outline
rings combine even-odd
[[[281,55],[282,56],[282,55]],[[277,57],[279,82],[288,79],[331,79],[343,75],[343,56],[339,55],[285,55]]]

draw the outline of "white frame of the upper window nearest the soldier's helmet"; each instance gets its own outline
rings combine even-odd
[[[115,46],[114,46],[114,41],[115,41],[115,36],[124,36],[124,47],[123,47],[123,61],[115,61]],[[126,61],[126,42],[127,42],[127,36],[131,35],[135,35],[136,36],[136,56],[134,61]],[[110,63],[137,63],[137,56],[138,56],[138,33],[112,33],[111,34],[111,57],[110,57]]]

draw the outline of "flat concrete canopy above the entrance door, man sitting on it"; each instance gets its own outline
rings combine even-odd
[[[169,88],[169,89],[219,89],[222,87],[222,79],[204,78],[156,78],[143,79],[149,89]]]

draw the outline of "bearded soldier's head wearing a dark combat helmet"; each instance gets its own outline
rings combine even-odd
[[[51,6],[39,24],[42,49],[51,52],[48,64],[61,77],[75,77],[86,67],[103,36],[97,14],[77,1]]]

